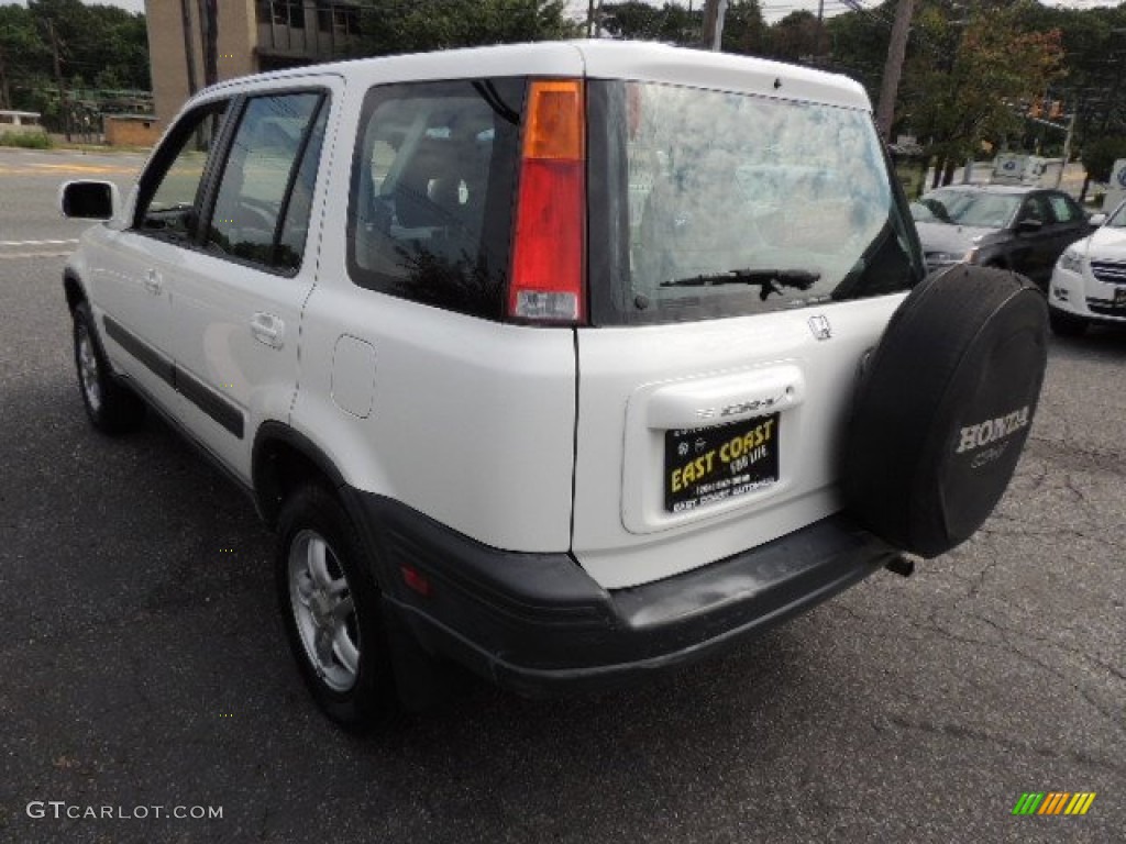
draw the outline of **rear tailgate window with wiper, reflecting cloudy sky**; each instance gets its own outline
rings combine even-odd
[[[669,84],[590,86],[599,324],[741,316],[922,278],[870,115]]]

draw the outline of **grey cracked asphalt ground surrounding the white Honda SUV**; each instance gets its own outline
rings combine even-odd
[[[141,161],[0,151],[0,839],[1121,838],[1126,331],[1052,341],[1008,495],[913,577],[647,685],[466,682],[358,739],[301,685],[250,502],[159,421],[83,416],[56,189]]]

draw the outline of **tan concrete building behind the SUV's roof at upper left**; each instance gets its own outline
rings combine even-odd
[[[217,80],[355,53],[360,5],[347,0],[213,0]],[[204,87],[200,0],[145,0],[160,127]],[[190,53],[187,45],[190,44]]]

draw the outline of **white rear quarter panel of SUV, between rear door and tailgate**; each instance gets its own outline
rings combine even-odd
[[[343,281],[341,279],[341,281]],[[378,357],[365,420],[329,395],[340,333]],[[293,425],[354,486],[495,548],[565,551],[574,452],[574,341],[343,282],[305,308]]]

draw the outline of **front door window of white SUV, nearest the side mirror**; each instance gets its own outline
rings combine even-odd
[[[136,228],[162,239],[190,242],[200,219],[207,159],[226,114],[226,101],[202,106],[169,134],[141,179]]]

